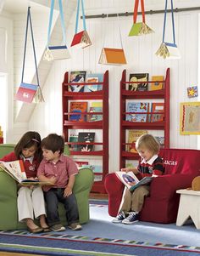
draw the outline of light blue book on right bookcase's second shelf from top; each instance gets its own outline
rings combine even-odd
[[[149,111],[148,102],[130,101],[127,103],[126,112],[131,112],[131,113],[126,114],[125,120],[130,122],[147,122],[148,111]]]

